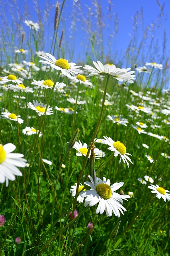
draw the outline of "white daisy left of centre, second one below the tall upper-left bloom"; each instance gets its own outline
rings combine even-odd
[[[38,115],[41,116],[41,115],[44,115],[47,104],[39,103],[37,100],[36,101],[33,100],[33,104],[29,102],[27,106],[28,108],[35,110],[38,113]],[[50,106],[48,106],[46,115],[52,115],[53,114],[52,109],[53,108],[50,108]]]

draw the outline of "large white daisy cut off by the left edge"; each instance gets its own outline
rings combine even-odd
[[[8,186],[8,180],[15,180],[16,176],[22,176],[22,173],[17,167],[25,167],[27,160],[23,157],[23,154],[11,153],[16,149],[16,146],[12,143],[0,144],[0,183],[6,181],[6,187]]]

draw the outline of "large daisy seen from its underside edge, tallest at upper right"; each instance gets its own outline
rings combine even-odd
[[[90,72],[88,76],[113,76],[115,79],[119,80],[120,82],[129,81],[133,83],[135,80],[135,76],[132,75],[135,71],[128,72],[131,68],[116,68],[113,64],[105,64],[103,65],[100,61],[94,62],[93,64],[96,68],[93,68],[89,65],[85,65],[84,69],[87,72]]]

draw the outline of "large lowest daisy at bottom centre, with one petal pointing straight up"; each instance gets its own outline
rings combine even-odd
[[[115,190],[121,188],[124,183],[116,182],[110,186],[110,180],[106,180],[105,177],[103,177],[103,180],[96,177],[95,170],[94,180],[90,175],[88,177],[91,182],[87,181],[84,182],[84,184],[89,186],[91,189],[80,192],[82,197],[86,197],[84,206],[94,206],[95,204],[99,203],[96,209],[96,214],[99,212],[100,214],[103,214],[104,211],[106,211],[107,217],[111,217],[114,213],[115,216],[119,218],[120,212],[124,214],[123,210],[126,211],[126,209],[122,206],[122,199],[127,200],[126,198],[130,198],[130,196],[115,193]]]

